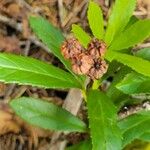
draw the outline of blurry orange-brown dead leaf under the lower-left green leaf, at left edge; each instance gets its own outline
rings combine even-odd
[[[27,135],[35,147],[38,145],[39,138],[49,137],[50,131],[32,126],[17,117],[6,103],[0,103],[0,135],[23,132]]]

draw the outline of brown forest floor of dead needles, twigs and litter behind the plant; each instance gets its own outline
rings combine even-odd
[[[104,12],[107,21],[113,0],[95,0]],[[63,67],[48,48],[30,30],[28,17],[41,15],[60,28],[66,37],[71,35],[71,25],[80,24],[90,32],[86,17],[88,0],[0,0],[0,52],[34,57]],[[134,12],[139,18],[150,18],[150,0],[138,0]],[[150,47],[150,42],[139,45]],[[52,101],[82,119],[86,119],[86,108],[78,90],[46,90],[31,86],[0,83],[0,150],[63,150],[85,139],[87,135],[46,131],[33,127],[18,118],[9,108],[8,102],[21,96],[30,96]],[[78,99],[78,101],[73,99]],[[70,101],[70,99],[72,99]],[[121,116],[141,108],[149,108],[149,102],[124,108]]]

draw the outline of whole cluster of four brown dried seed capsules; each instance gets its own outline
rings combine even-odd
[[[77,39],[65,41],[61,47],[62,55],[71,61],[72,70],[76,74],[87,75],[92,80],[99,79],[106,73],[108,65],[103,56],[106,45],[93,38],[85,49]]]

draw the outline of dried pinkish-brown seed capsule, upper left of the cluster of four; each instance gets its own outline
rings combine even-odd
[[[70,38],[65,41],[61,47],[61,53],[66,59],[72,59],[81,54],[84,48],[81,46],[78,40]]]

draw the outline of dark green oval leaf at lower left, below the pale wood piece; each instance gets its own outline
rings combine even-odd
[[[22,97],[12,100],[10,106],[22,119],[44,129],[86,131],[86,126],[81,120],[52,103]]]

